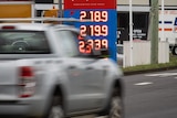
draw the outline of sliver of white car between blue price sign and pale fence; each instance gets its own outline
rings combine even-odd
[[[117,56],[117,63],[118,63],[118,65],[124,66],[124,63],[125,63],[124,58],[125,58],[125,56],[124,56],[124,46],[123,46],[123,44],[117,44],[116,56]]]

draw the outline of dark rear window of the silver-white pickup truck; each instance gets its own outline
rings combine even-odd
[[[48,54],[50,47],[44,32],[0,31],[1,54]]]

